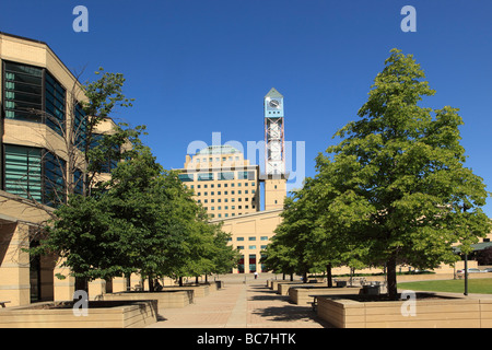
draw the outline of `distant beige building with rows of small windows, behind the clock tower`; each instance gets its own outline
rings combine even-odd
[[[179,178],[195,191],[195,199],[207,209],[211,222],[223,222],[223,231],[231,233],[231,245],[241,252],[239,265],[232,272],[262,271],[260,252],[281,222],[286,180],[263,178],[259,165],[250,164],[242,152],[226,144],[187,154],[179,171]]]

